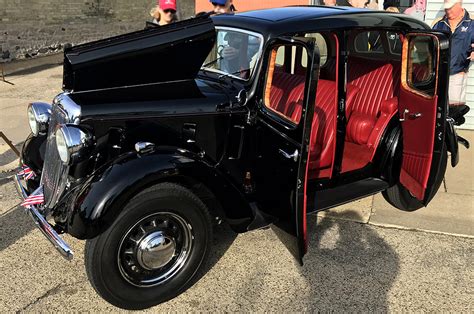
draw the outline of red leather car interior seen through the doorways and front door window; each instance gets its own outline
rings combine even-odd
[[[337,82],[343,79],[338,77],[339,43],[329,32],[305,36],[315,38],[321,56],[309,179],[331,178],[336,151]],[[364,168],[373,160],[384,130],[398,112],[402,41],[403,35],[385,30],[352,31],[349,35],[341,173]],[[423,55],[421,50],[418,52]],[[283,45],[276,47],[270,58],[265,105],[272,113],[298,124],[306,77],[306,51],[301,46]],[[413,82],[428,86],[430,84],[425,83],[431,77],[427,69],[432,60],[419,59],[419,63],[410,67],[413,69],[410,75]]]

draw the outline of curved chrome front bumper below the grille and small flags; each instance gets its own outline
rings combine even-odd
[[[15,175],[15,183],[18,189],[18,193],[20,196],[25,199],[28,197],[26,189],[23,187],[21,183],[23,181],[20,176],[17,174]],[[45,235],[45,237],[51,242],[56,250],[61,253],[61,255],[67,259],[72,260],[73,252],[69,245],[59,236],[59,234],[53,229],[53,227],[48,223],[48,221],[41,215],[41,213],[36,209],[36,206],[29,206],[29,208],[25,209],[35,222],[36,227],[41,230],[41,232]]]

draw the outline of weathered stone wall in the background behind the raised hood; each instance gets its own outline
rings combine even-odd
[[[143,29],[156,0],[0,0],[0,62]],[[178,0],[179,18],[194,0]]]

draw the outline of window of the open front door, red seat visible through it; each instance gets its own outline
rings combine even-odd
[[[306,73],[293,70],[298,49],[302,47],[280,45],[271,50],[264,90],[265,108],[294,124],[301,119],[306,79]]]

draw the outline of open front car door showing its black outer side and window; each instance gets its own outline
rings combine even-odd
[[[296,54],[298,49],[306,54]],[[300,60],[295,60],[297,55]],[[295,73],[295,62],[306,65],[305,73]],[[308,153],[319,75],[314,39],[280,38],[272,42],[263,69],[265,79],[260,82],[257,98],[255,204],[260,212],[276,219],[274,231],[302,264],[307,251]]]

